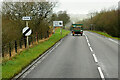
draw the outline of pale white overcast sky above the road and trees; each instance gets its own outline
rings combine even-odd
[[[88,14],[101,9],[117,7],[119,0],[57,0],[55,12],[66,10],[69,14]]]

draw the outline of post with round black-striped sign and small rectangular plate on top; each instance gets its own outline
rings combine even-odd
[[[30,16],[25,16],[25,17],[22,17],[22,20],[25,20],[26,21],[26,27],[23,29],[22,33],[23,35],[25,35],[27,37],[27,47],[29,47],[29,35],[31,35],[32,33],[32,30],[28,27],[28,21],[31,20],[32,17]]]

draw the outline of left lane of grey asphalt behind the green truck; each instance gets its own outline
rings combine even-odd
[[[69,35],[26,78],[100,78],[85,36]]]

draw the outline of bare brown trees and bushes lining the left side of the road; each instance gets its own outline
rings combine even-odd
[[[57,2],[4,2],[2,10],[2,44],[14,40],[20,40],[22,29],[26,26],[26,22],[22,20],[23,16],[31,16],[32,20],[29,21],[29,27],[32,29],[32,35],[41,34],[44,36],[47,31],[51,31],[53,25],[52,15],[53,8]],[[65,11],[57,14],[64,24],[69,22],[69,16]],[[59,18],[56,17],[56,18]],[[51,20],[52,19],[52,20]]]

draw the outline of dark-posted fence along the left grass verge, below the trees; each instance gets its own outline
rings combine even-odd
[[[48,38],[49,32],[47,31],[46,34],[38,34],[36,33],[36,36],[30,36],[29,37],[29,46],[33,45],[34,42],[38,42],[39,40],[42,40],[43,38]],[[2,57],[5,57],[8,55],[9,57],[12,56],[12,52],[18,53],[19,49],[27,48],[27,40],[26,37],[22,37],[20,40],[14,40],[12,42],[9,42],[5,45],[2,45]]]

